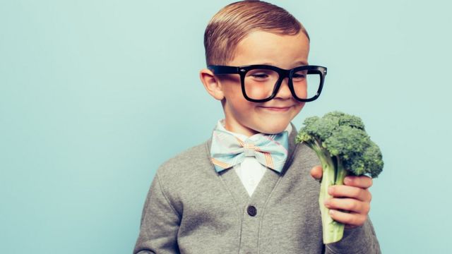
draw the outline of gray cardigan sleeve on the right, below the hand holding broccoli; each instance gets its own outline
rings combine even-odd
[[[379,241],[369,218],[355,229],[345,229],[342,240],[326,245],[325,254],[380,254]]]

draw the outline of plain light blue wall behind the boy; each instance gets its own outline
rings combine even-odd
[[[198,78],[232,1],[0,1],[0,253],[131,253],[157,167],[222,118]],[[306,116],[362,116],[383,151],[383,253],[450,253],[451,4],[271,1],[328,67]]]

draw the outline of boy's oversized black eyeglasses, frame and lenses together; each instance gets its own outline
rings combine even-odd
[[[215,75],[239,74],[243,96],[250,102],[268,102],[273,99],[286,77],[289,78],[289,89],[295,99],[312,102],[320,96],[326,75],[326,67],[322,66],[298,66],[290,70],[265,64],[238,67],[209,65],[207,68]]]

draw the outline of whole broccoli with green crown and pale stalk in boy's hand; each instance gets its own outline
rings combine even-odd
[[[305,143],[314,150],[323,167],[319,196],[323,243],[340,241],[344,224],[335,222],[323,205],[331,198],[328,187],[342,185],[347,175],[378,176],[383,169],[380,149],[370,140],[359,117],[339,111],[307,118],[295,143]]]

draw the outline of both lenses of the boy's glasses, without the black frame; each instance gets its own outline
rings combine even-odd
[[[248,71],[244,78],[246,96],[251,99],[267,99],[273,94],[279,74],[269,69],[254,69]],[[314,97],[319,90],[320,75],[306,70],[297,71],[292,75],[295,95],[302,99]]]

